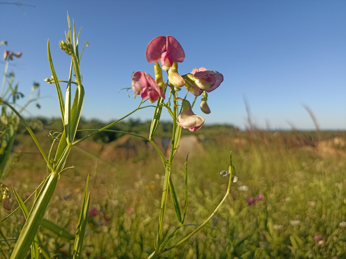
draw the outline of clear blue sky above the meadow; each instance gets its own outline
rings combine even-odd
[[[10,2],[7,0],[6,2]],[[224,75],[208,94],[211,113],[193,109],[205,123],[246,125],[244,97],[255,123],[270,129],[313,129],[303,108],[315,113],[321,129],[346,129],[346,1],[39,1],[18,8],[0,4],[0,46],[22,57],[11,62],[26,97],[32,83],[40,83],[42,108],[32,104],[25,116],[60,117],[47,58],[51,43],[58,78],[68,80],[71,59],[58,43],[68,29],[66,11],[81,27],[80,45],[90,46],[81,59],[85,88],[82,116],[103,121],[121,118],[134,110],[140,96],[128,98],[121,88],[131,87],[131,74],[142,70],[152,76],[145,58],[149,41],[171,35],[185,51],[178,71],[206,67]],[[0,71],[4,62],[0,63]],[[62,84],[62,88],[65,84]],[[62,89],[64,92],[64,89]],[[180,97],[185,94],[179,92]],[[190,94],[188,100],[192,101]],[[153,109],[131,118],[145,121]],[[162,118],[169,120],[164,112]],[[289,123],[288,123],[289,122]]]

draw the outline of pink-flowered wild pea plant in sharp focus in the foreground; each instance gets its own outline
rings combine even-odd
[[[35,201],[34,205],[31,208],[30,212],[27,211],[25,207],[25,202],[21,201],[19,196],[16,194],[15,189],[13,192],[16,194],[16,198],[20,204],[20,208],[22,209],[26,222],[20,233],[20,236],[17,240],[16,246],[13,249],[13,253],[11,255],[11,259],[22,259],[25,258],[29,248],[31,246],[31,256],[32,258],[38,259],[38,251],[43,251],[42,248],[39,247],[37,231],[40,225],[52,230],[56,229],[57,226],[54,225],[53,222],[49,222],[43,219],[45,211],[47,209],[48,203],[53,195],[53,192],[56,187],[57,180],[61,172],[64,170],[71,168],[66,167],[67,157],[70,154],[71,148],[77,143],[101,132],[104,130],[125,133],[132,136],[136,136],[142,139],[146,139],[151,142],[154,148],[159,153],[163,162],[163,169],[165,170],[164,174],[164,182],[163,182],[163,191],[162,191],[162,199],[161,199],[161,207],[160,207],[160,215],[158,218],[158,230],[156,241],[154,244],[155,249],[152,254],[148,258],[157,258],[161,255],[161,253],[171,250],[179,246],[181,243],[188,240],[194,233],[196,233],[199,229],[205,226],[210,219],[215,215],[218,209],[221,207],[222,203],[229,196],[229,190],[231,182],[236,182],[237,177],[235,174],[234,167],[232,165],[231,154],[230,153],[230,165],[228,171],[225,171],[225,175],[229,177],[228,188],[224,198],[221,200],[219,205],[215,208],[215,210],[210,214],[210,216],[201,223],[195,230],[193,230],[189,235],[181,239],[179,242],[171,245],[170,247],[166,247],[171,238],[177,233],[177,231],[184,227],[184,220],[187,210],[187,199],[188,199],[188,186],[187,186],[187,178],[188,178],[188,157],[186,157],[186,165],[185,165],[185,197],[184,197],[184,208],[183,212],[179,206],[179,201],[174,189],[174,184],[171,178],[171,168],[172,161],[175,155],[176,148],[180,141],[182,128],[189,129],[190,131],[196,131],[203,126],[204,118],[199,115],[193,113],[192,108],[194,106],[197,97],[203,93],[201,109],[205,113],[209,113],[210,109],[206,104],[207,101],[207,92],[211,92],[219,87],[220,83],[223,81],[223,76],[217,71],[207,70],[206,68],[194,69],[191,73],[180,75],[178,73],[178,63],[183,62],[185,58],[185,53],[179,42],[174,39],[172,36],[160,36],[153,39],[149,42],[146,49],[146,58],[148,62],[155,62],[154,64],[154,73],[155,79],[151,77],[144,71],[137,71],[132,75],[132,87],[127,89],[133,89],[136,95],[140,94],[142,100],[139,103],[139,106],[126,116],[121,119],[114,121],[107,126],[101,129],[84,129],[84,131],[91,131],[91,133],[79,140],[75,140],[76,132],[78,131],[78,124],[81,116],[81,111],[84,102],[84,87],[82,84],[82,77],[80,72],[80,60],[82,57],[82,53],[85,47],[88,46],[88,42],[85,43],[83,50],[79,53],[79,34],[76,37],[74,23],[73,30],[71,29],[70,17],[68,16],[69,30],[66,35],[66,40],[60,42],[60,48],[64,50],[69,56],[71,56],[71,66],[68,80],[60,80],[57,77],[55,72],[53,61],[51,57],[49,41],[48,41],[48,60],[49,65],[51,67],[52,76],[51,78],[45,79],[48,83],[54,83],[58,95],[58,101],[61,111],[61,118],[64,125],[64,131],[51,131],[50,136],[52,137],[52,145],[49,150],[48,155],[44,152],[39,142],[37,141],[34,133],[28,127],[28,124],[25,120],[20,116],[19,112],[11,106],[11,104],[5,100],[1,100],[1,104],[8,106],[13,110],[14,113],[24,122],[27,130],[29,131],[31,137],[34,139],[37,147],[42,153],[43,158],[47,163],[47,176],[42,182],[42,188],[38,192],[35,193]],[[167,71],[168,79],[164,80],[162,75],[162,69],[158,62],[161,61],[162,69]],[[72,76],[75,76],[76,80],[72,80]],[[62,88],[60,83],[67,83],[65,99],[63,97]],[[76,85],[76,91],[74,98],[72,99],[71,91],[72,85]],[[177,90],[180,90],[181,87],[185,86],[187,92],[184,98],[178,97]],[[190,104],[189,101],[186,100],[188,93],[191,92],[195,98]],[[167,97],[168,96],[168,97]],[[167,97],[167,98],[166,98]],[[72,101],[73,100],[73,101]],[[151,103],[157,102],[156,105],[148,105],[143,106],[149,100]],[[182,101],[182,108],[178,109],[178,100]],[[165,102],[166,101],[166,102]],[[172,105],[173,104],[173,105]],[[173,107],[172,107],[173,106]],[[117,130],[108,130],[107,128],[113,126],[117,122],[127,118],[134,112],[144,109],[147,107],[155,107],[154,116],[151,122],[151,127],[149,131],[149,137],[144,137],[140,135],[136,135],[129,132],[117,131]],[[155,135],[156,128],[158,126],[158,122],[160,120],[160,116],[162,113],[162,108],[165,108],[168,113],[171,115],[173,120],[172,127],[172,146],[170,150],[170,155],[166,158],[160,149],[157,148],[155,142],[153,141],[153,137]],[[53,148],[57,145],[56,148]],[[55,154],[53,152],[55,151]],[[222,175],[222,172],[221,172]],[[89,178],[88,178],[89,179]],[[154,186],[155,187],[155,186]],[[89,209],[90,202],[90,194],[87,193],[88,183],[85,189],[84,200],[82,204],[82,209],[79,218],[79,225],[76,231],[76,235],[71,237],[66,230],[53,231],[54,233],[58,233],[58,235],[62,235],[64,233],[65,238],[72,240],[74,239],[74,247],[72,254],[70,255],[74,259],[80,258],[82,244],[84,239],[85,227],[88,222],[88,217],[94,217],[97,215],[98,211],[96,209]],[[163,223],[166,211],[166,203],[167,203],[167,195],[170,191],[173,205],[176,212],[177,217],[177,226],[175,230],[170,233],[170,235],[163,235]],[[231,197],[229,197],[231,198]],[[17,209],[16,209],[17,210]],[[134,208],[130,208],[127,210],[127,213],[133,213]],[[91,220],[92,221],[92,220]],[[53,226],[53,227],[52,227]],[[65,232],[64,232],[65,231]],[[67,233],[66,233],[67,232]],[[46,257],[48,258],[48,256]]]

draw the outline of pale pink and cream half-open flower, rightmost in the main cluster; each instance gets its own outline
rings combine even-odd
[[[199,68],[192,70],[193,81],[195,85],[206,92],[211,92],[219,87],[220,83],[224,81],[224,76],[215,70],[207,70],[206,68]]]

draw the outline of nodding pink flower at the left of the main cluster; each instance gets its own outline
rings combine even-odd
[[[143,71],[137,71],[132,75],[132,90],[140,94],[143,99],[150,99],[155,102],[160,96],[165,99],[163,89],[158,86],[155,79]]]

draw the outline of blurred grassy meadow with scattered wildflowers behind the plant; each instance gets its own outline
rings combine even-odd
[[[82,121],[79,127],[102,127],[95,123],[102,124]],[[45,151],[51,143],[49,130],[62,130],[58,120],[31,120],[30,126]],[[130,121],[115,126],[145,136],[150,123]],[[171,127],[171,123],[161,123],[154,139],[164,153]],[[30,135],[21,128],[18,132],[15,159],[2,182],[25,199],[42,182],[47,169]],[[76,138],[84,133],[78,134]],[[228,178],[221,177],[220,171],[228,169],[229,151],[233,151],[238,182],[232,183],[231,196],[208,226],[164,255],[346,258],[345,141],[345,132],[241,132],[231,126],[203,126],[193,133],[183,130],[171,177],[182,209],[185,160],[190,152],[188,209],[185,226],[166,247],[208,218],[225,195]],[[66,167],[72,165],[62,172],[45,218],[74,234],[89,174],[91,211],[81,258],[147,258],[156,239],[164,178],[162,160],[151,143],[102,132],[72,148]],[[28,209],[33,202],[34,197]],[[12,210],[18,207],[14,197],[11,204]],[[9,213],[1,209],[0,219]],[[170,194],[165,216],[164,234],[168,236],[179,223]],[[24,222],[18,210],[0,224],[0,258],[9,258]],[[38,236],[49,257],[69,257],[73,241],[42,226]]]

